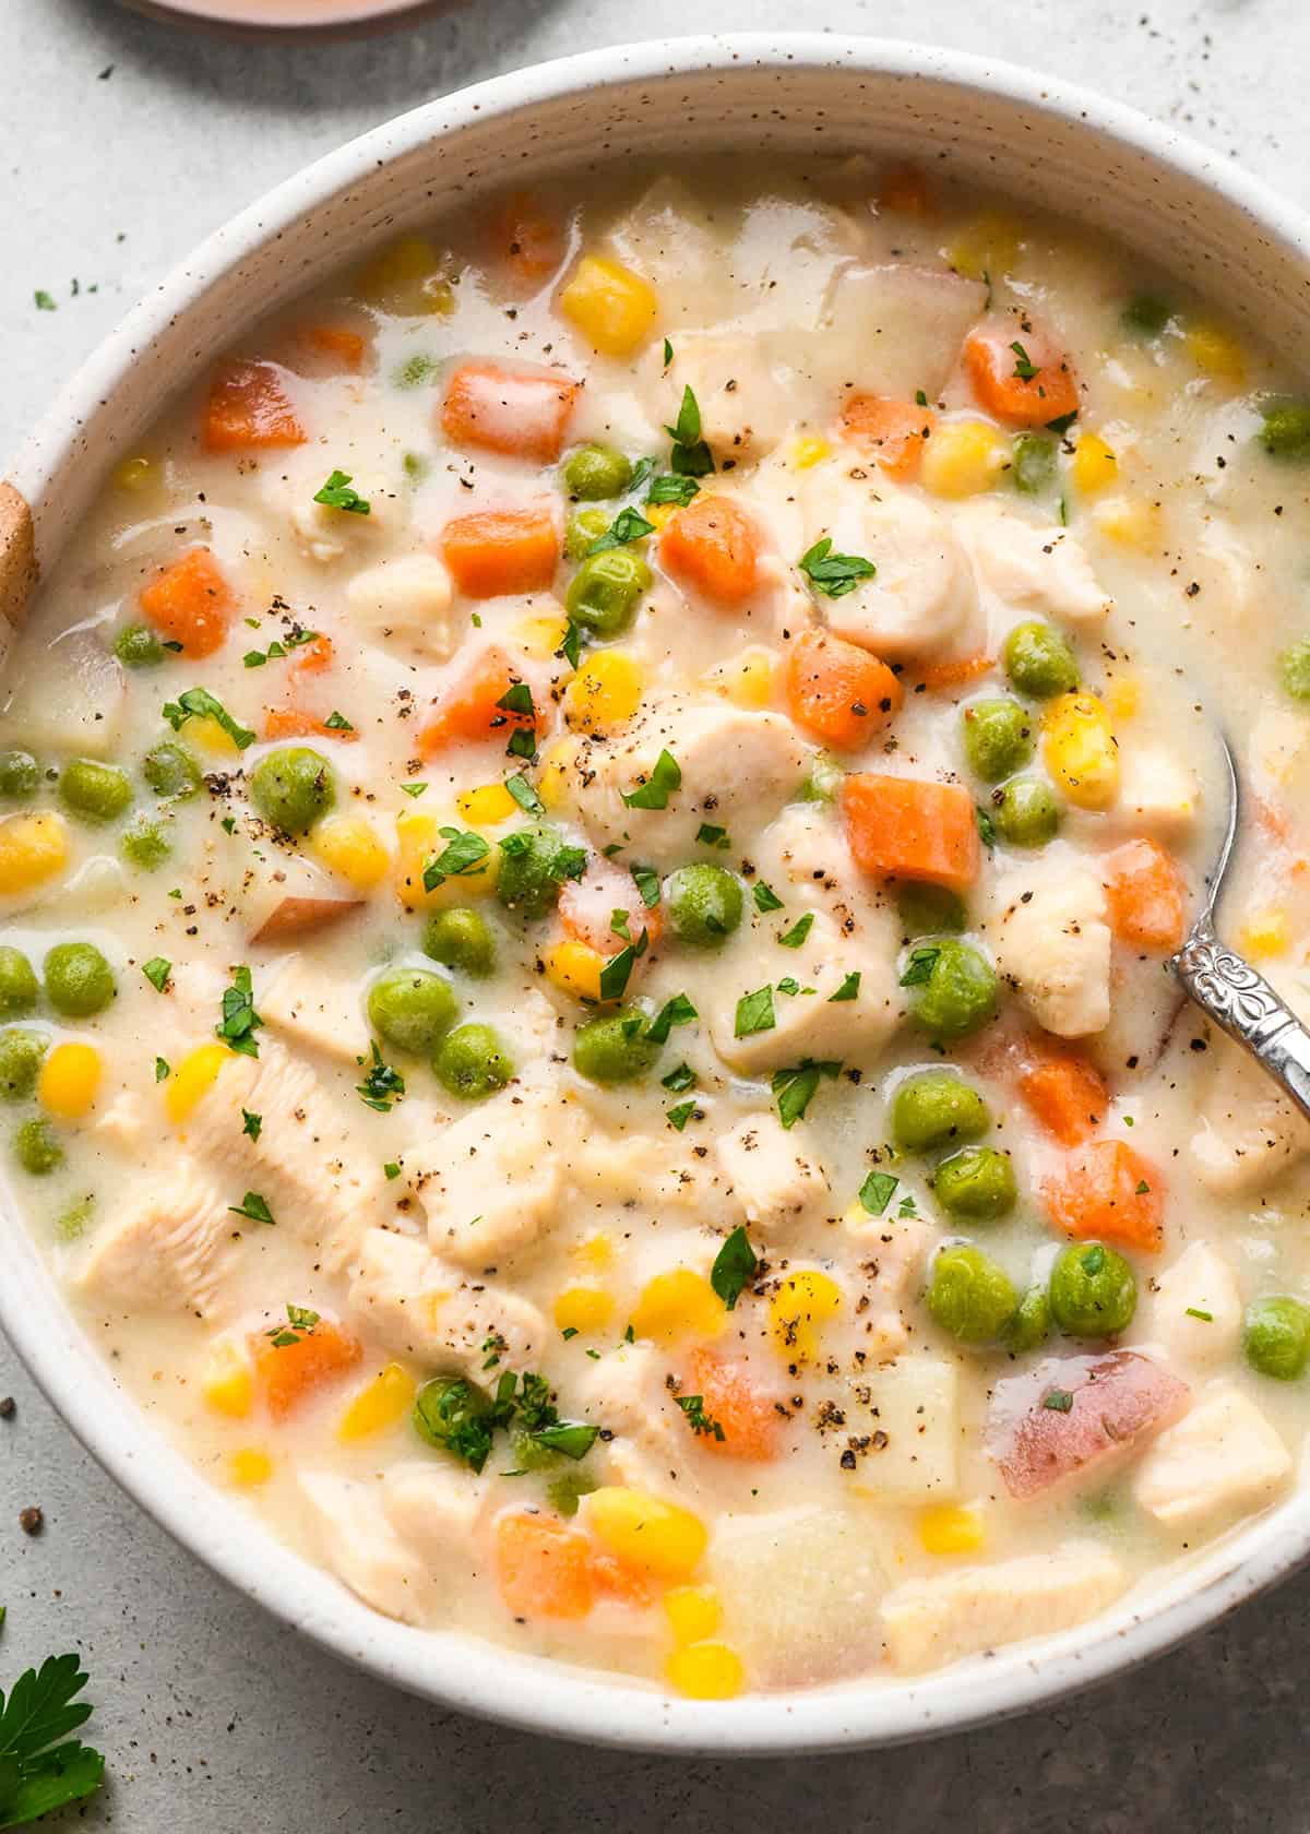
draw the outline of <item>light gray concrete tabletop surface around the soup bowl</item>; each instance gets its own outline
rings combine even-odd
[[[165,266],[347,136],[514,64],[624,39],[802,22],[1055,70],[1187,125],[1310,202],[1306,0],[468,0],[394,39],[301,50],[185,37],[114,0],[0,0],[0,451]],[[35,288],[59,310],[37,312]],[[50,1651],[84,1652],[112,1775],[86,1827],[1310,1827],[1310,1574],[1134,1676],[969,1737],[750,1766],[624,1757],[442,1715],[317,1654],[121,1497],[0,1341],[9,1392],[18,1407],[0,1421],[0,1682]],[[18,1530],[28,1504],[46,1511],[39,1539]]]

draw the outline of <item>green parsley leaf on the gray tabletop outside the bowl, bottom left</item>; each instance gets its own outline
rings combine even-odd
[[[99,1790],[105,1759],[68,1737],[92,1715],[90,1702],[73,1702],[83,1687],[83,1658],[70,1652],[24,1669],[7,1700],[0,1693],[0,1827],[24,1827]]]

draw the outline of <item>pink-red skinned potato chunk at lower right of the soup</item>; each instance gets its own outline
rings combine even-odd
[[[1037,1497],[1064,1480],[1103,1480],[1189,1399],[1187,1383],[1138,1350],[1046,1357],[996,1383],[987,1449],[1011,1497]]]

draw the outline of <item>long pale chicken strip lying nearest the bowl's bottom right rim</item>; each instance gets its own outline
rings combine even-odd
[[[1020,1638],[1055,1636],[1105,1610],[1127,1583],[1097,1542],[910,1579],[883,1599],[888,1656],[903,1674],[917,1674]]]

